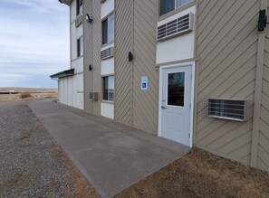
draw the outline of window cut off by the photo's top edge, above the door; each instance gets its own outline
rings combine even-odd
[[[187,5],[194,0],[159,0],[159,15],[168,14],[178,7]]]

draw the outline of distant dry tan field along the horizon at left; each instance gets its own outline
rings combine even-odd
[[[0,94],[0,102],[21,101],[32,99],[57,99],[57,89],[31,89],[31,88],[0,88],[2,91],[10,91],[10,94]],[[24,98],[24,96],[26,96]]]

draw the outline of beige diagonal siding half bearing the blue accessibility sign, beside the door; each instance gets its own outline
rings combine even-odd
[[[156,70],[158,0],[134,1],[133,127],[157,134],[159,71]],[[142,76],[149,90],[140,90]]]

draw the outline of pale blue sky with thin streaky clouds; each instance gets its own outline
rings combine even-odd
[[[0,0],[0,87],[57,88],[70,67],[69,7],[58,0]]]

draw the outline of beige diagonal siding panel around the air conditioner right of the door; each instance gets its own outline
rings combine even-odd
[[[260,1],[199,0],[196,145],[250,164]],[[207,117],[207,99],[247,99],[246,122]]]

